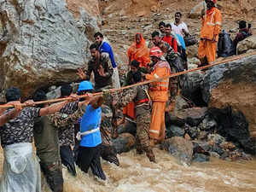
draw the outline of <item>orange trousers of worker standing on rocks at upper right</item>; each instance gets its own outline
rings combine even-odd
[[[216,59],[216,49],[217,42],[212,42],[212,40],[201,40],[198,48],[198,58],[203,60],[207,57],[207,61],[210,64]]]

